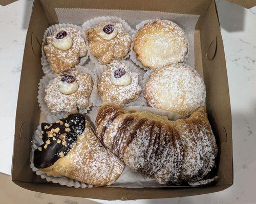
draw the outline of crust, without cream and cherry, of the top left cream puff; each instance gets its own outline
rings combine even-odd
[[[61,50],[53,46],[53,38],[61,31],[66,31],[73,39],[71,48]],[[87,45],[82,38],[80,31],[74,28],[60,28],[54,32],[54,35],[47,37],[47,44],[44,46],[47,60],[51,69],[55,73],[65,73],[74,69],[75,65],[79,63],[79,57],[86,56]]]

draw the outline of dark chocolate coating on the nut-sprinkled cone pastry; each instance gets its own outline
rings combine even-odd
[[[35,149],[34,166],[36,168],[47,168],[52,166],[54,162],[60,158],[60,152],[63,152],[63,156],[66,156],[71,149],[72,144],[76,142],[77,135],[81,135],[84,131],[86,119],[82,114],[76,113],[69,115],[67,118],[62,118],[59,121],[62,121],[63,124],[60,124],[60,122],[52,123],[51,126],[49,123],[45,122],[41,124],[41,130],[44,131],[42,132],[42,141],[44,141],[44,144],[40,146],[41,151],[39,151],[39,149]],[[68,123],[69,127],[66,127],[65,123]],[[56,136],[53,136],[56,140],[53,140],[53,137],[49,137],[47,132],[50,132],[52,129],[56,129],[57,127],[59,127],[60,130],[58,133],[55,133]],[[66,128],[69,128],[70,132],[65,131]],[[62,144],[61,134],[67,134],[65,136],[66,145]],[[44,146],[48,139],[51,143],[48,144],[45,149]],[[61,140],[60,143],[57,143],[58,139]]]

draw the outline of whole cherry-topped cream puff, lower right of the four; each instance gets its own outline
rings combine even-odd
[[[131,72],[121,61],[108,64],[98,83],[98,92],[103,102],[113,102],[119,106],[129,103],[139,97],[138,73]]]

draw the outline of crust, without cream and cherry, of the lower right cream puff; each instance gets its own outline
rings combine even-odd
[[[112,83],[111,72],[119,68],[124,68],[126,74],[130,74],[131,83],[129,85],[117,86]],[[139,75],[138,73],[130,71],[125,63],[115,60],[108,64],[106,70],[102,73],[98,83],[98,93],[101,95],[103,102],[112,102],[119,106],[124,106],[132,100],[136,100],[141,93]]]

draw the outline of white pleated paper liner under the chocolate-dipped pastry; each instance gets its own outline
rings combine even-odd
[[[57,114],[57,115],[48,115],[46,120],[44,122],[47,123],[53,123],[56,120],[59,120],[61,118],[65,117],[65,114]],[[34,133],[34,136],[32,137],[33,141],[32,141],[32,146],[31,146],[31,152],[30,152],[30,167],[32,168],[32,171],[36,172],[37,175],[41,176],[42,179],[46,179],[48,182],[53,182],[55,184],[60,184],[61,186],[68,186],[68,187],[75,187],[75,188],[91,188],[93,187],[92,185],[89,184],[84,184],[82,182],[78,182],[76,180],[73,179],[69,179],[66,176],[52,176],[52,175],[48,175],[47,173],[45,173],[44,171],[41,171],[39,169],[37,169],[34,166],[34,151],[35,149],[37,149],[41,144],[43,144],[44,142],[42,141],[42,139],[39,138],[39,136],[41,135],[41,125],[37,126],[37,130]]]

